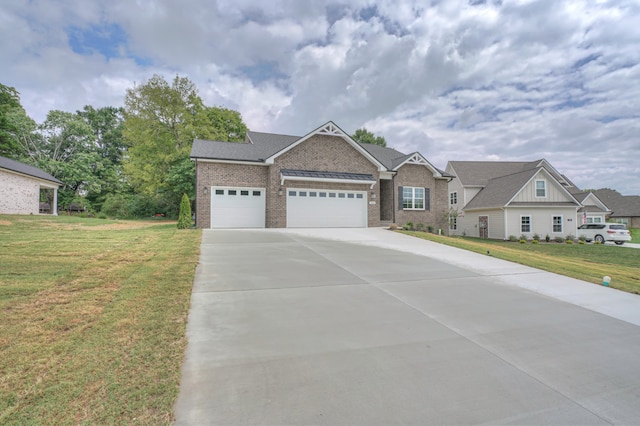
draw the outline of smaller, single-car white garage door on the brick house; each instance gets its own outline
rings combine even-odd
[[[212,228],[264,228],[264,188],[211,187]]]

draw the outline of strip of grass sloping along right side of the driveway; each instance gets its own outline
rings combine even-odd
[[[445,237],[426,232],[400,231],[407,235],[463,248],[476,253],[532,266],[602,284],[602,277],[612,278],[611,287],[640,294],[640,250],[599,244],[520,244],[481,240],[469,237]]]

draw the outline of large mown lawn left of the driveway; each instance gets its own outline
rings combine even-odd
[[[0,215],[0,424],[168,424],[201,233]]]

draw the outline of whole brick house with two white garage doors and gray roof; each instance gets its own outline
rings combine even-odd
[[[446,227],[447,182],[420,153],[360,144],[333,122],[305,136],[195,140],[200,228]]]

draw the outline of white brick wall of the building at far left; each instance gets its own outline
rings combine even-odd
[[[0,213],[38,214],[40,184],[28,177],[0,170]]]

